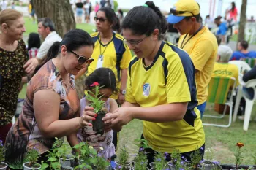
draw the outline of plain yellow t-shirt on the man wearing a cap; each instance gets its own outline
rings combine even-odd
[[[178,47],[183,42],[183,50],[189,53],[194,63],[197,73],[195,81],[197,82],[198,105],[206,101],[208,95],[208,83],[211,80],[211,74],[216,61],[218,45],[217,39],[208,28],[203,27],[195,36],[189,39],[189,35],[182,35],[178,41]],[[187,42],[187,40],[189,41]],[[187,42],[187,43],[186,43]]]

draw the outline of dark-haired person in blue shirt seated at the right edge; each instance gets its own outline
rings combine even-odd
[[[249,44],[246,40],[242,40],[238,42],[237,49],[238,51],[235,51],[231,58],[230,61],[233,60],[240,60],[241,58],[256,58],[256,51],[249,51],[248,50]]]

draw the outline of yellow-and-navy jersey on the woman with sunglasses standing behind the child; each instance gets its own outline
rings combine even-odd
[[[99,33],[97,32],[91,34],[91,38],[94,41],[94,53],[91,56],[94,61],[88,67],[86,75],[88,76],[99,67],[110,68],[116,75],[116,87],[120,89],[121,70],[128,68],[129,61],[132,58],[129,47],[124,45],[124,37],[113,32],[112,40],[106,45],[100,42]],[[118,96],[112,95],[111,98],[117,99]]]

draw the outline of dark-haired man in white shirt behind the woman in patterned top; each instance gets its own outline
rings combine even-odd
[[[55,26],[50,18],[39,18],[38,34],[44,40],[37,53],[37,60],[42,62],[53,42],[61,42],[61,37],[56,33]]]

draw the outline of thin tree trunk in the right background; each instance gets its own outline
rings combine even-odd
[[[244,30],[246,25],[246,7],[247,0],[242,0],[237,43],[244,39]]]

